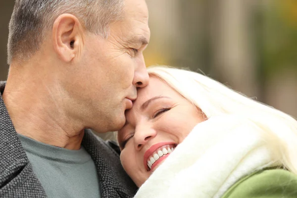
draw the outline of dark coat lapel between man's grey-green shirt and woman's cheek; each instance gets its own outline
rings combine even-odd
[[[132,198],[136,185],[122,168],[119,155],[100,138],[86,130],[83,146],[97,167],[102,198]]]

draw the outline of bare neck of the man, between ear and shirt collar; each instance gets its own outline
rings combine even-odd
[[[58,85],[48,82],[54,81],[8,76],[2,98],[16,132],[52,146],[79,149],[83,124],[64,108]]]

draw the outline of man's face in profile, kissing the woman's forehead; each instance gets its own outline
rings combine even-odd
[[[126,0],[124,13],[124,20],[110,24],[108,39],[87,34],[82,69],[77,71],[84,79],[77,97],[89,111],[85,118],[88,127],[97,132],[121,128],[125,110],[137,97],[137,87],[148,84],[143,56],[150,37],[147,4],[145,0]]]

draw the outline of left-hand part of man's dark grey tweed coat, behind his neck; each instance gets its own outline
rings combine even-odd
[[[46,197],[17,137],[2,99],[0,82],[0,197]]]

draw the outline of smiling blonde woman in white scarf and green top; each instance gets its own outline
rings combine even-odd
[[[195,72],[148,72],[118,132],[137,198],[297,198],[294,118]]]

